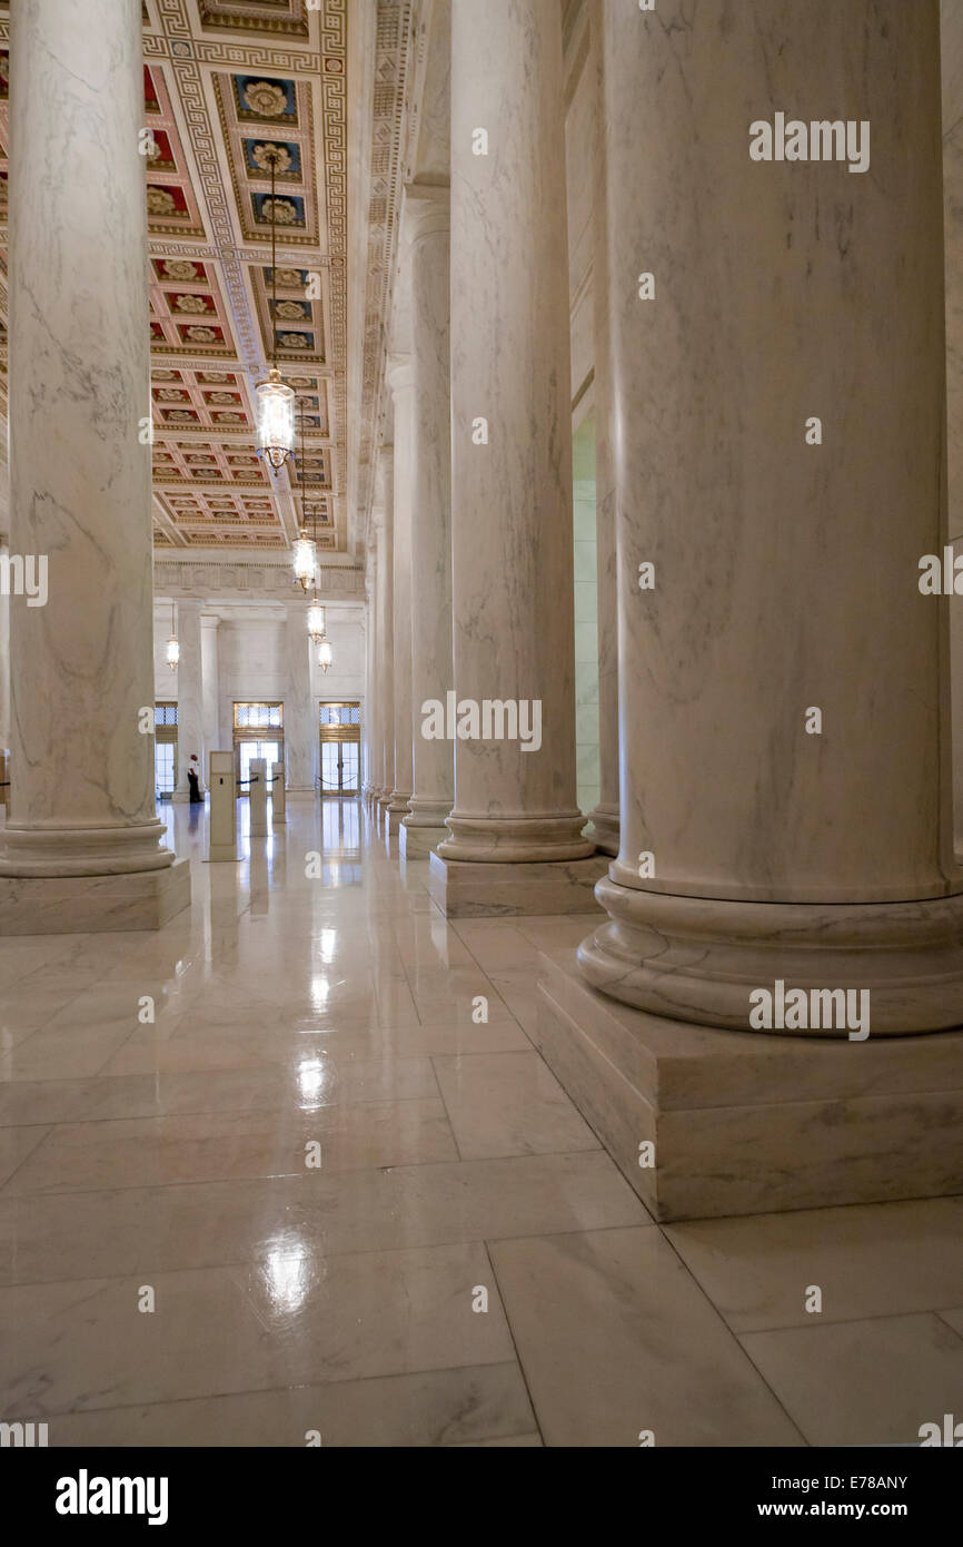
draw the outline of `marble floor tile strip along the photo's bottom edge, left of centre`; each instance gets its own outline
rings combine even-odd
[[[51,1446],[295,1448],[320,1434],[325,1450],[541,1445],[515,1361],[244,1391],[150,1406],[62,1412]]]

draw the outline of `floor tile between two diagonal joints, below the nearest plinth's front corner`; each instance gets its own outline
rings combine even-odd
[[[802,1443],[657,1227],[490,1252],[546,1445]]]

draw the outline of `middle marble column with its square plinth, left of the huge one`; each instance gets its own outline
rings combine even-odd
[[[431,855],[447,913],[594,905],[597,862],[581,862],[595,843],[575,801],[566,255],[560,6],[454,0],[453,685],[465,739],[450,837]]]

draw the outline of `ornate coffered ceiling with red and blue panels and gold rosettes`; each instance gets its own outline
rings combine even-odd
[[[349,548],[348,11],[356,3],[142,5],[155,543],[172,557],[178,549],[283,551],[297,535],[295,475],[272,475],[254,449],[254,387],[266,373],[272,331],[281,374],[298,394],[318,548]],[[6,11],[0,8],[3,226]],[[274,314],[264,155],[272,145],[281,153]],[[5,320],[5,255],[0,308]],[[0,348],[5,368],[5,333]]]

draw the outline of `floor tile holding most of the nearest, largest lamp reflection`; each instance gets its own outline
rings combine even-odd
[[[485,1279],[487,1275],[487,1279]],[[515,1358],[482,1245],[323,1259],[277,1245],[236,1269],[0,1290],[6,1417]],[[85,1337],[76,1337],[77,1326]]]

